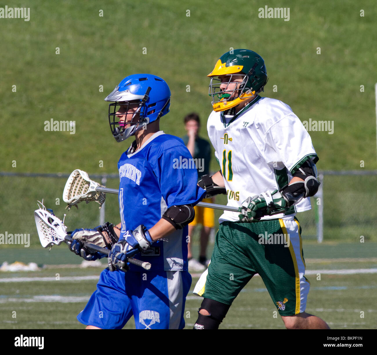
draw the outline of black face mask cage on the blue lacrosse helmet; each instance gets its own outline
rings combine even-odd
[[[116,113],[120,112],[121,106],[127,106],[126,110],[124,109],[121,110],[121,112],[123,113],[118,114],[118,115],[126,115],[129,110],[130,105],[135,105],[135,104],[136,103],[132,101],[116,101],[114,103],[109,104],[109,124],[110,124],[110,130],[113,136],[123,133],[124,130],[126,129],[125,124],[119,121],[119,118],[116,117]],[[146,105],[142,101],[139,103],[138,108],[133,113],[132,121],[133,121],[133,118],[135,118],[135,116],[138,113],[140,115],[139,121],[129,122],[127,124],[129,124],[130,126],[133,126],[135,124],[140,124],[144,122],[144,114],[146,114]],[[117,130],[117,128],[119,129]]]

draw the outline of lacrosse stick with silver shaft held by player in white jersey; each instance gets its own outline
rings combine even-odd
[[[77,204],[81,201],[86,201],[87,204],[90,201],[96,201],[98,204],[102,205],[106,198],[105,193],[118,194],[119,191],[114,188],[103,187],[98,184],[98,182],[90,180],[85,171],[76,169],[72,171],[72,174],[70,174],[66,182],[63,191],[63,201],[67,202],[67,208],[72,206],[77,207]],[[196,206],[238,212],[237,207],[208,204],[207,202],[198,202]]]

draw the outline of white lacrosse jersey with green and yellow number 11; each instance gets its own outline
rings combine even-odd
[[[233,118],[223,111],[212,112],[207,130],[223,174],[228,206],[239,207],[249,196],[280,190],[305,160],[318,160],[299,118],[276,99],[257,96]],[[306,198],[284,214],[261,219],[291,217],[310,208]],[[226,220],[239,221],[238,213],[224,211],[219,223]]]

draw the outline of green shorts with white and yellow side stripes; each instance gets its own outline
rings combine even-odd
[[[305,311],[310,284],[305,278],[301,228],[296,218],[257,223],[223,222],[211,263],[194,293],[231,305],[259,274],[279,314]]]

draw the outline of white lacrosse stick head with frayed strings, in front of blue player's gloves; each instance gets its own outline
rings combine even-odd
[[[42,206],[38,205],[40,208],[34,211],[39,240],[43,248],[48,248],[55,244],[60,245],[67,235],[67,227],[52,213],[52,210],[47,210],[43,203],[40,202],[40,204]]]

